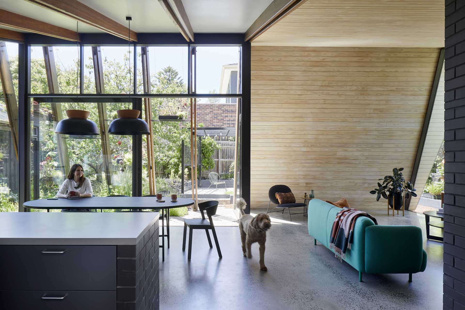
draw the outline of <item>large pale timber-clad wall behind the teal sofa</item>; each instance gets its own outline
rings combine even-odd
[[[313,189],[355,208],[386,208],[369,191],[394,167],[410,178],[438,55],[439,48],[252,46],[252,208],[267,206],[275,184],[296,197]],[[425,152],[436,156],[438,147]]]

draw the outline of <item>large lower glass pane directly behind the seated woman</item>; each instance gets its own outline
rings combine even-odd
[[[99,128],[101,122],[109,124],[117,118],[116,110],[121,109],[121,104],[111,103],[86,103],[78,106],[76,103],[33,102],[31,199],[55,197],[73,164],[83,166],[84,175],[90,179],[95,196],[132,196],[132,136],[108,134],[108,143],[102,147],[102,141],[105,141],[102,135],[71,136],[54,133],[56,122],[53,119],[56,113],[60,111],[63,118],[66,118],[66,110],[83,109],[83,105],[90,112],[89,119]],[[100,112],[98,105],[102,106]]]

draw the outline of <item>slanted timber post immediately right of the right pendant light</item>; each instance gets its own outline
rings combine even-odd
[[[148,57],[148,48],[146,46],[141,47],[141,58],[142,58],[142,84],[144,93],[150,93],[150,66]],[[148,162],[148,181],[150,195],[157,192],[157,184],[155,178],[155,153],[153,148],[153,127],[152,127],[152,101],[150,98],[144,98],[144,108],[146,122],[149,128],[149,134],[146,136],[147,141],[147,162]]]

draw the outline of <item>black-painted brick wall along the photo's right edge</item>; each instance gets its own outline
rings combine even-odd
[[[465,309],[465,0],[445,0],[444,309]]]

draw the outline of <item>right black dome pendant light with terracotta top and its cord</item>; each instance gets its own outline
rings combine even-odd
[[[129,51],[129,69],[131,69],[131,20],[126,16],[128,21],[129,35],[127,39],[127,47]],[[129,70],[129,91],[128,98],[131,99],[131,70]],[[124,107],[124,106],[123,106]],[[140,111],[133,109],[123,109],[116,111],[118,119],[113,121],[108,126],[108,133],[117,135],[143,135],[149,134],[149,128],[145,120],[139,119]]]

